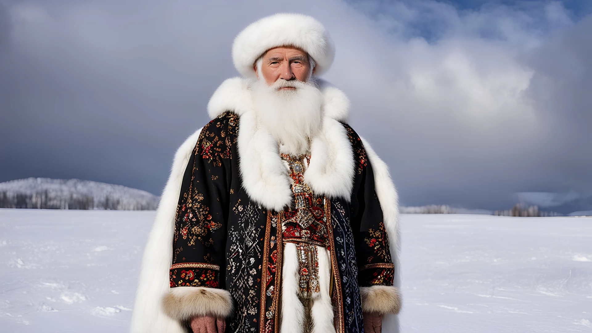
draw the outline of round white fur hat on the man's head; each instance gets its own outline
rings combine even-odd
[[[294,46],[316,62],[316,75],[326,72],[333,62],[333,41],[323,24],[302,14],[275,14],[249,24],[234,39],[234,67],[247,78],[255,78],[253,64],[267,50]]]

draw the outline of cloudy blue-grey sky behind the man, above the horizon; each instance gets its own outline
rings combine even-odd
[[[330,31],[323,78],[350,98],[349,123],[390,166],[401,204],[592,195],[587,0],[0,0],[0,182],[159,194],[211,94],[238,75],[234,36],[276,12]]]

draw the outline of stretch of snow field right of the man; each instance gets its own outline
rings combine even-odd
[[[401,218],[401,332],[592,332],[592,218]]]

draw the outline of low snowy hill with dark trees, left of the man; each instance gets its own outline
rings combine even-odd
[[[0,182],[0,208],[155,210],[159,197],[89,180],[26,178]]]

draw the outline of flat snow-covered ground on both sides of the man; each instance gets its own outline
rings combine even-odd
[[[126,332],[154,212],[0,209],[0,332]],[[592,218],[404,214],[401,332],[592,332]]]

